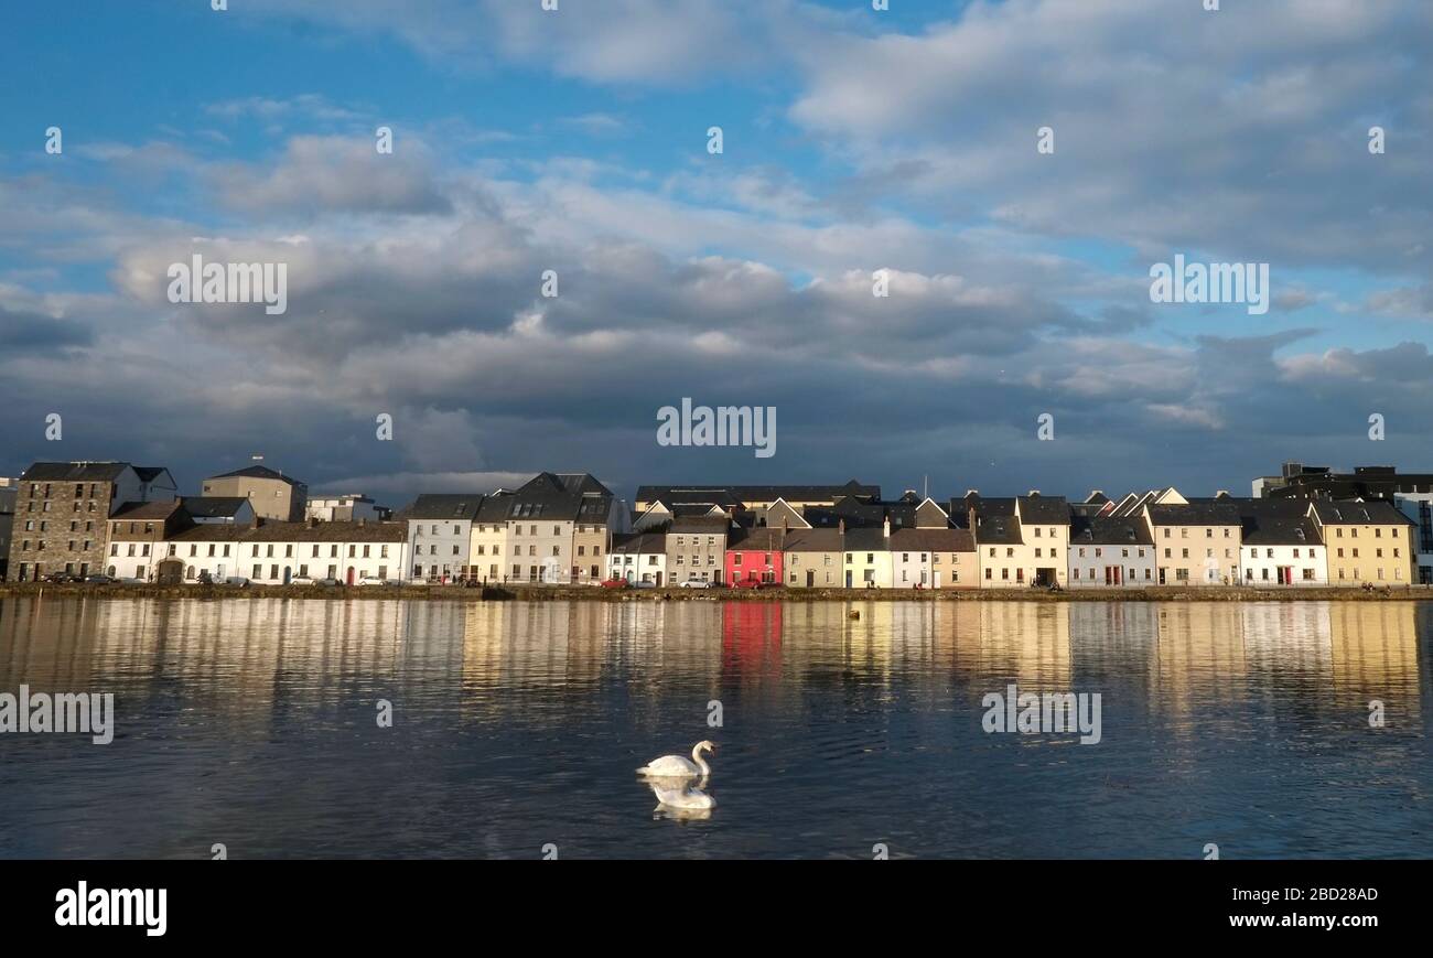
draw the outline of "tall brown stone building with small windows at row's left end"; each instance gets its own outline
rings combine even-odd
[[[85,577],[106,565],[109,519],[126,503],[172,502],[173,478],[128,462],[36,462],[20,473],[10,532],[10,578]]]

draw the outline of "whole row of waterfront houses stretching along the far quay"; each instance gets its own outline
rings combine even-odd
[[[264,466],[202,488],[178,495],[163,468],[34,463],[0,483],[10,578],[1002,589],[1410,585],[1433,572],[1419,522],[1384,498],[884,501],[850,480],[641,486],[629,512],[589,473],[542,472],[514,489],[421,495],[391,521],[365,496],[335,496],[321,521],[302,483]]]

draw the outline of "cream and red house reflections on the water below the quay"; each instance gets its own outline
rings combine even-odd
[[[1416,602],[430,602],[0,601],[0,687],[105,690],[259,723],[461,678],[466,711],[563,721],[616,687],[626,707],[815,683],[949,696],[1121,690],[1178,726],[1267,691],[1280,708],[1422,723]],[[858,612],[858,618],[851,618]],[[1287,704],[1285,704],[1287,703]],[[1303,706],[1300,704],[1303,703]],[[550,713],[550,716],[549,716]],[[1343,718],[1340,718],[1343,720]]]

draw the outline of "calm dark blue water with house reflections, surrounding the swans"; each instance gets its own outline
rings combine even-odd
[[[3,599],[0,691],[110,691],[118,731],[0,736],[0,856],[1433,856],[1430,634],[1417,602]],[[986,734],[1012,681],[1099,693],[1103,740]],[[653,815],[633,769],[706,737],[718,807]]]

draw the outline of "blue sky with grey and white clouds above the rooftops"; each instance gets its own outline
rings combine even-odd
[[[0,475],[1433,470],[1433,4],[871,6],[7,6]],[[287,310],[173,303],[196,254],[285,264]],[[1267,264],[1268,310],[1151,301],[1176,255]],[[659,445],[684,397],[774,407],[775,453]]]

